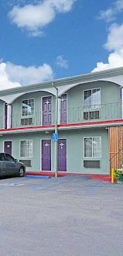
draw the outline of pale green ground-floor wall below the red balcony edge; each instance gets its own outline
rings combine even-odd
[[[101,137],[101,158],[93,160],[101,161],[101,168],[84,168],[84,137]],[[105,129],[86,129],[86,130],[67,130],[60,131],[59,138],[67,138],[67,172],[78,174],[109,174],[109,154],[108,154],[108,130]],[[3,150],[3,141],[12,140],[12,155],[19,159],[31,159],[19,157],[20,140],[33,140],[32,167],[26,168],[27,171],[41,171],[40,169],[40,140],[52,140],[52,133],[24,133],[12,134],[0,137],[0,151]],[[54,171],[54,142],[52,141],[52,171]],[[86,157],[86,160],[92,160]]]

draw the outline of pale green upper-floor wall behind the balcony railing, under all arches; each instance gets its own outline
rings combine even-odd
[[[84,90],[101,88],[101,106],[84,109]],[[35,99],[35,115],[32,116],[31,126],[43,125],[42,116],[42,97],[52,96],[52,124],[55,124],[55,96],[48,92],[29,92],[20,96],[12,103],[12,127],[17,128],[21,125],[22,99]],[[0,128],[4,126],[3,117],[4,102],[0,101]],[[100,118],[84,119],[84,112],[99,111]],[[96,114],[97,115],[97,114]],[[118,85],[108,81],[95,81],[77,85],[67,91],[67,123],[88,123],[106,119],[121,119],[121,92]],[[59,111],[60,119],[60,111]],[[26,125],[29,126],[29,125]]]

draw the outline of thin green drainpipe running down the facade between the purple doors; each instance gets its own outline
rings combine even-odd
[[[53,85],[53,82],[52,82]],[[53,85],[53,87],[56,89],[56,121],[55,121],[55,133],[58,133],[58,88]],[[55,177],[58,176],[58,141],[55,141]]]

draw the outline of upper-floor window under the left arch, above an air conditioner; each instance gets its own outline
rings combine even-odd
[[[22,116],[34,115],[34,99],[22,100]]]

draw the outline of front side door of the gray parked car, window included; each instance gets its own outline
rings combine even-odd
[[[5,154],[5,173],[15,175],[17,172],[15,159],[10,154]]]

